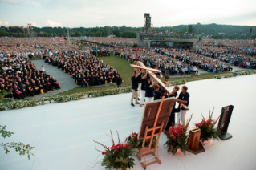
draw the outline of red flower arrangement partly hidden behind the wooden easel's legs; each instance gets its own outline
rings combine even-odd
[[[143,139],[138,139],[138,133],[136,132],[132,132],[131,135],[129,135],[126,139],[125,142],[131,147],[131,148],[135,148],[136,152],[140,152],[140,149],[142,148],[142,144],[143,144]],[[150,139],[147,139],[145,141],[144,147],[148,148],[150,144]],[[156,146],[156,137],[153,138],[152,141],[152,145],[151,148],[155,148]]]

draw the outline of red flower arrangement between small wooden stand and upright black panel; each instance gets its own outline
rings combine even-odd
[[[213,107],[213,111],[214,111],[214,107]],[[221,135],[221,132],[219,132],[217,128],[214,128],[220,116],[218,116],[217,119],[213,119],[213,111],[212,113],[210,113],[209,111],[208,119],[205,119],[205,117],[201,115],[202,116],[201,122],[195,124],[196,127],[200,128],[201,130],[200,140],[202,140],[202,142],[207,141],[209,139],[218,140],[218,136]]]

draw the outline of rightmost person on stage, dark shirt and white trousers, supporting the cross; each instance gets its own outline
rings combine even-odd
[[[181,108],[181,111],[177,113],[177,124],[180,123],[180,120],[182,124],[185,124],[185,114],[188,110],[185,110],[182,106],[186,105],[187,107],[189,107],[189,93],[187,92],[187,90],[188,87],[183,86],[181,88],[181,93],[176,100],[179,103],[179,108]]]

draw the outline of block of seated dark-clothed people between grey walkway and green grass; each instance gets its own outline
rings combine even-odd
[[[75,83],[81,87],[115,83],[118,72],[92,54],[47,56],[46,63],[72,75]]]

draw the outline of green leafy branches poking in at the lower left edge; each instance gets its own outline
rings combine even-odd
[[[9,137],[14,134],[14,132],[6,131],[6,126],[1,126],[0,125],[0,134],[3,138]],[[27,155],[27,158],[30,159],[30,156],[34,156],[33,153],[30,152],[35,147],[31,147],[29,144],[23,144],[21,142],[15,143],[2,143],[0,146],[3,147],[5,150],[6,154],[10,152],[10,148],[13,148],[16,152],[19,153],[20,156],[24,156],[25,154]]]

